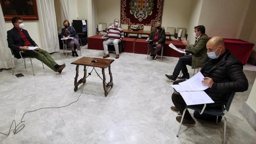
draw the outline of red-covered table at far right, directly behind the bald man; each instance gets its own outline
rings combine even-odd
[[[253,43],[239,39],[224,38],[225,48],[229,49],[242,64],[246,64],[251,52],[253,51]]]

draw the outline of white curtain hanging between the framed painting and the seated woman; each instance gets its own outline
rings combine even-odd
[[[42,49],[53,53],[60,51],[54,0],[36,0],[42,37]]]

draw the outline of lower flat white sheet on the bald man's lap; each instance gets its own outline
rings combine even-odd
[[[180,92],[180,95],[188,106],[214,103],[214,101],[204,91]]]

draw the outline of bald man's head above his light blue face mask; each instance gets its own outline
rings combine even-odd
[[[220,36],[212,37],[206,44],[207,53],[215,51],[216,56],[221,56],[226,50],[224,40]]]

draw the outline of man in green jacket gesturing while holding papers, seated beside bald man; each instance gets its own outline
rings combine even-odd
[[[206,43],[208,42],[209,37],[205,34],[205,26],[195,26],[194,29],[194,36],[196,38],[195,45],[190,45],[187,40],[183,39],[182,43],[186,45],[186,49],[179,49],[187,53],[192,53],[192,56],[181,56],[179,58],[179,61],[174,68],[173,75],[165,74],[170,81],[175,81],[177,78],[189,79],[186,65],[191,66],[192,69],[200,68],[207,58]],[[183,74],[182,77],[178,77],[180,71]]]

